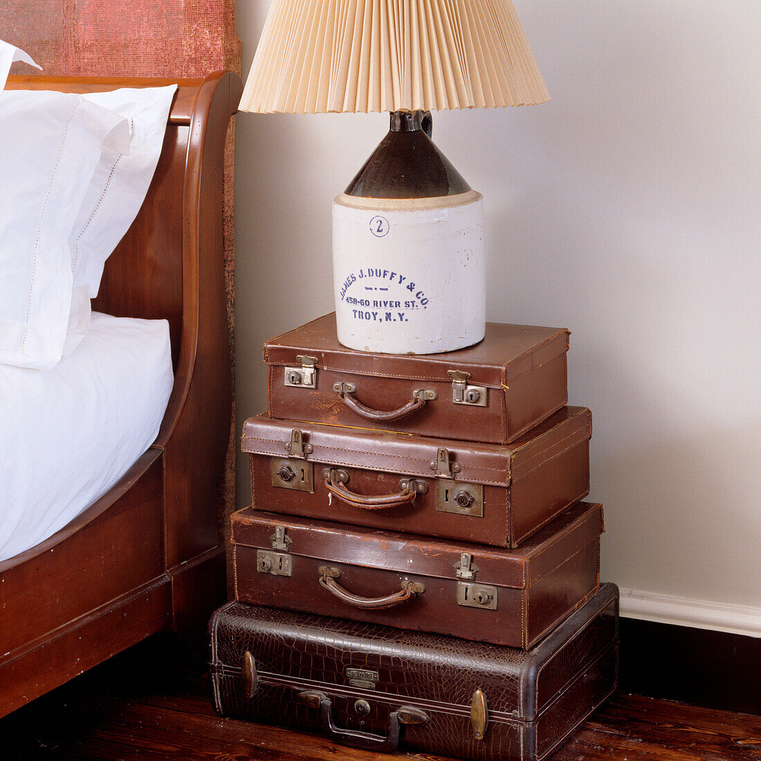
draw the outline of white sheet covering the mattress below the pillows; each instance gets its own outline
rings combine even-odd
[[[0,365],[0,560],[88,508],[158,435],[174,377],[166,320],[93,313],[48,371]]]

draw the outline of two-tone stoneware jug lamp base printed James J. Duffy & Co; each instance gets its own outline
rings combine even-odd
[[[486,330],[483,199],[430,139],[428,112],[391,129],[333,201],[338,339],[383,354],[452,352]]]

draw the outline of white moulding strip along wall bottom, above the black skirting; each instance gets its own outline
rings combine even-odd
[[[621,615],[626,618],[712,629],[749,637],[761,637],[761,608],[750,605],[688,600],[669,594],[635,589],[621,590]]]

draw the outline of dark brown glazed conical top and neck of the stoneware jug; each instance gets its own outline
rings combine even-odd
[[[393,111],[386,137],[345,189],[358,198],[438,198],[470,185],[431,140],[430,111]]]

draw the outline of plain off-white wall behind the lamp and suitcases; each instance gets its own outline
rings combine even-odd
[[[515,5],[553,100],[434,119],[485,196],[487,317],[572,330],[622,610],[761,635],[761,3]],[[237,4],[244,73],[268,7]],[[387,116],[236,118],[242,422],[262,342],[333,308],[330,202]]]

